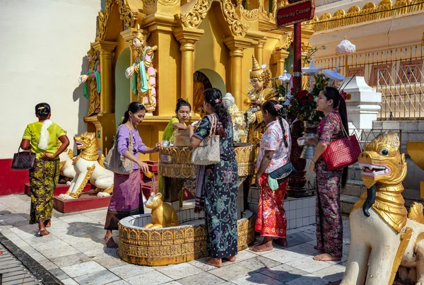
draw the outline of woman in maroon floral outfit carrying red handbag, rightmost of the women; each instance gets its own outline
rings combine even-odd
[[[317,173],[317,250],[323,253],[314,260],[341,260],[343,255],[343,222],[341,220],[340,192],[346,186],[347,168],[327,170],[322,153],[331,141],[343,138],[343,127],[348,132],[346,102],[334,87],[326,87],[319,93],[317,110],[324,112],[318,127],[318,141],[308,139],[317,145],[310,164],[310,173]]]

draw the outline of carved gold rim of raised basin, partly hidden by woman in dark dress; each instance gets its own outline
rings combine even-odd
[[[253,146],[235,147],[235,160],[240,177],[253,175],[254,172]],[[196,179],[192,160],[192,148],[166,146],[159,148],[158,174],[168,178]]]

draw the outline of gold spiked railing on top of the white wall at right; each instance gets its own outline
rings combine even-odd
[[[364,76],[382,93],[379,120],[424,119],[424,45],[316,59],[315,66],[334,69],[346,76]]]

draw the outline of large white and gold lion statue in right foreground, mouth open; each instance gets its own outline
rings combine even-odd
[[[399,266],[408,267],[409,281],[424,284],[423,205],[413,203],[406,211],[401,194],[406,162],[399,148],[399,136],[387,132],[360,153],[367,192],[351,212],[351,249],[341,285],[391,285]],[[401,279],[404,275],[399,270]]]

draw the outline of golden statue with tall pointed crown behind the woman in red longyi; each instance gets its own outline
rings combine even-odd
[[[255,146],[254,159],[256,161],[259,151],[259,144],[264,134],[266,124],[262,117],[261,104],[268,100],[278,100],[276,91],[271,87],[269,70],[264,70],[259,66],[257,59],[252,55],[252,70],[250,71],[250,83],[253,89],[249,91],[250,99],[245,100],[245,105],[249,105],[246,111],[248,133],[248,142]]]

